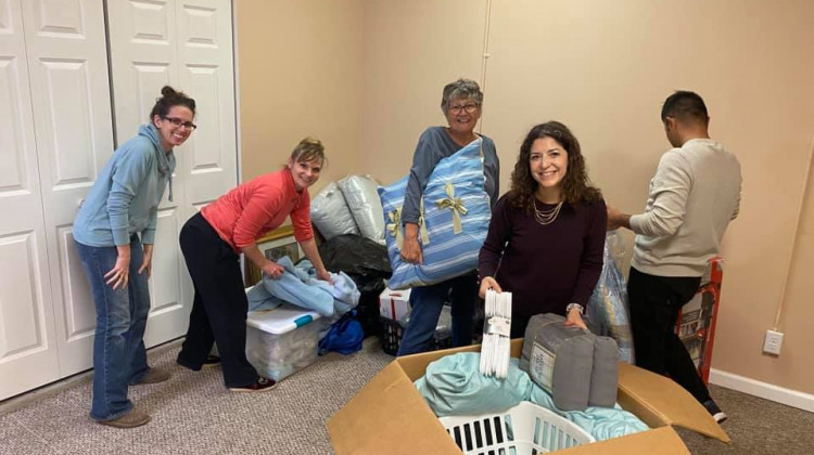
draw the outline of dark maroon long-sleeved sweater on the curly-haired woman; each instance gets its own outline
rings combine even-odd
[[[554,207],[537,202],[540,210]],[[603,200],[563,204],[552,223],[540,225],[504,195],[481,248],[479,277],[493,276],[512,292],[512,320],[523,324],[538,313],[564,315],[572,302],[586,307],[602,271],[607,217]]]

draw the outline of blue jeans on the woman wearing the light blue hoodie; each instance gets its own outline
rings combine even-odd
[[[141,240],[137,235],[130,237],[128,284],[118,289],[105,284],[104,278],[116,264],[116,247],[92,247],[76,242],[76,249],[97,309],[90,417],[113,420],[132,408],[127,388],[138,384],[150,369],[143,339],[150,291],[147,272],[138,272],[144,258]]]

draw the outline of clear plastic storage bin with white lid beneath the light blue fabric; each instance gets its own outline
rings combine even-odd
[[[276,381],[317,360],[320,315],[283,303],[246,316],[246,359],[257,374]]]

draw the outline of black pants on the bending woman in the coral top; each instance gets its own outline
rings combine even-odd
[[[254,384],[257,372],[246,360],[245,352],[249,301],[240,274],[240,257],[201,213],[183,225],[180,243],[195,287],[195,299],[178,363],[201,369],[214,341],[226,387]]]

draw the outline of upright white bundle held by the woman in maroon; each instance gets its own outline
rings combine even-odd
[[[480,370],[486,376],[505,378],[511,354],[511,292],[487,289],[484,313]]]

